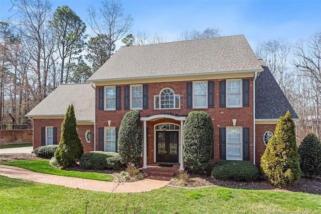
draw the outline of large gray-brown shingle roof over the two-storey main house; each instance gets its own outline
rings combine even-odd
[[[87,81],[262,69],[244,35],[121,47]]]

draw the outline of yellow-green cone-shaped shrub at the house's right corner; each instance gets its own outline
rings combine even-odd
[[[289,186],[300,179],[299,154],[295,140],[294,122],[289,111],[277,122],[261,157],[264,176],[276,186]]]

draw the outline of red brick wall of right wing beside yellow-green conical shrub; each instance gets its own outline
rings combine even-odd
[[[259,124],[255,125],[255,147],[256,147],[256,153],[255,153],[255,161],[256,165],[260,165],[261,156],[263,155],[265,151],[265,144],[263,140],[264,133],[266,131],[271,131],[274,133],[276,124]]]

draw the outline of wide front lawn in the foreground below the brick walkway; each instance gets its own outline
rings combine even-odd
[[[100,208],[106,208],[106,213],[321,212],[321,196],[301,192],[163,187],[151,192],[110,194],[4,176],[0,176],[0,189],[0,213],[85,213],[86,204],[87,213]]]

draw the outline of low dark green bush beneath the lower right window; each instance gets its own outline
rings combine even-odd
[[[258,169],[254,164],[246,161],[221,160],[214,164],[212,178],[253,181],[258,178]]]

